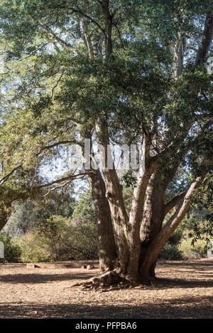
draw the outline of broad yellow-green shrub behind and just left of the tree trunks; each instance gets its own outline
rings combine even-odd
[[[18,244],[23,262],[97,259],[97,225],[55,215],[41,221]]]

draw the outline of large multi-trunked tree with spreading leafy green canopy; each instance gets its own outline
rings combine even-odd
[[[33,191],[87,177],[104,272],[92,283],[150,281],[212,171],[212,1],[1,0],[0,18],[2,179],[26,177]],[[85,138],[106,151],[141,142],[145,169],[121,178],[106,159],[45,184],[40,167]],[[166,201],[180,167],[185,186]]]

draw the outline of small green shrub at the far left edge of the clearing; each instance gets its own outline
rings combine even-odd
[[[16,263],[21,260],[21,248],[15,244],[6,232],[0,233],[0,241],[4,244],[4,259],[0,259],[1,263]]]

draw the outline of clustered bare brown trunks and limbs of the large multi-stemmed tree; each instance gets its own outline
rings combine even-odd
[[[104,19],[104,43],[105,57],[110,57],[113,52],[112,31],[113,16],[109,10],[109,1],[99,1],[102,5]],[[87,45],[89,57],[95,55],[92,40],[89,35],[87,20],[83,22],[84,41]],[[201,66],[209,50],[212,41],[213,16],[207,15],[202,45],[197,52],[196,66]],[[182,60],[185,48],[185,37],[181,31],[178,32],[177,41],[174,47],[174,79],[178,79],[182,74]],[[195,89],[194,89],[195,88]],[[195,96],[199,87],[192,87]],[[170,96],[168,91],[168,96]],[[190,124],[191,125],[191,124]],[[97,215],[97,229],[99,237],[99,259],[100,267],[105,272],[104,277],[109,273],[110,279],[104,280],[107,283],[118,282],[119,278],[130,283],[141,283],[151,281],[155,277],[155,265],[170,235],[178,227],[182,218],[190,206],[190,198],[195,193],[198,186],[204,181],[204,175],[197,178],[187,189],[179,193],[172,201],[165,203],[165,191],[178,166],[185,156],[187,149],[180,147],[187,136],[190,125],[181,129],[178,143],[163,149],[163,152],[151,156],[152,138],[144,130],[143,144],[145,146],[145,170],[140,166],[138,179],[133,191],[131,211],[128,214],[124,204],[122,186],[116,169],[107,168],[107,156],[109,153],[109,133],[107,118],[99,119],[94,124],[97,140],[105,148],[102,160],[105,164],[102,171],[94,170],[88,173],[92,186],[92,197]],[[176,158],[174,158],[174,155]],[[173,160],[170,163],[170,175],[163,171],[163,164],[167,159]],[[173,212],[170,220],[163,225],[165,215]],[[4,221],[0,221],[0,230]],[[114,274],[111,274],[114,272]],[[102,278],[100,278],[102,281]],[[97,282],[97,279],[96,279]],[[102,281],[103,282],[103,281]]]

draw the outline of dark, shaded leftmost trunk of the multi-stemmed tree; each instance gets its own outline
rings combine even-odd
[[[116,245],[111,221],[111,212],[106,198],[106,188],[100,171],[90,174],[92,198],[97,216],[97,230],[99,239],[99,262],[102,271],[114,269],[116,266]]]

